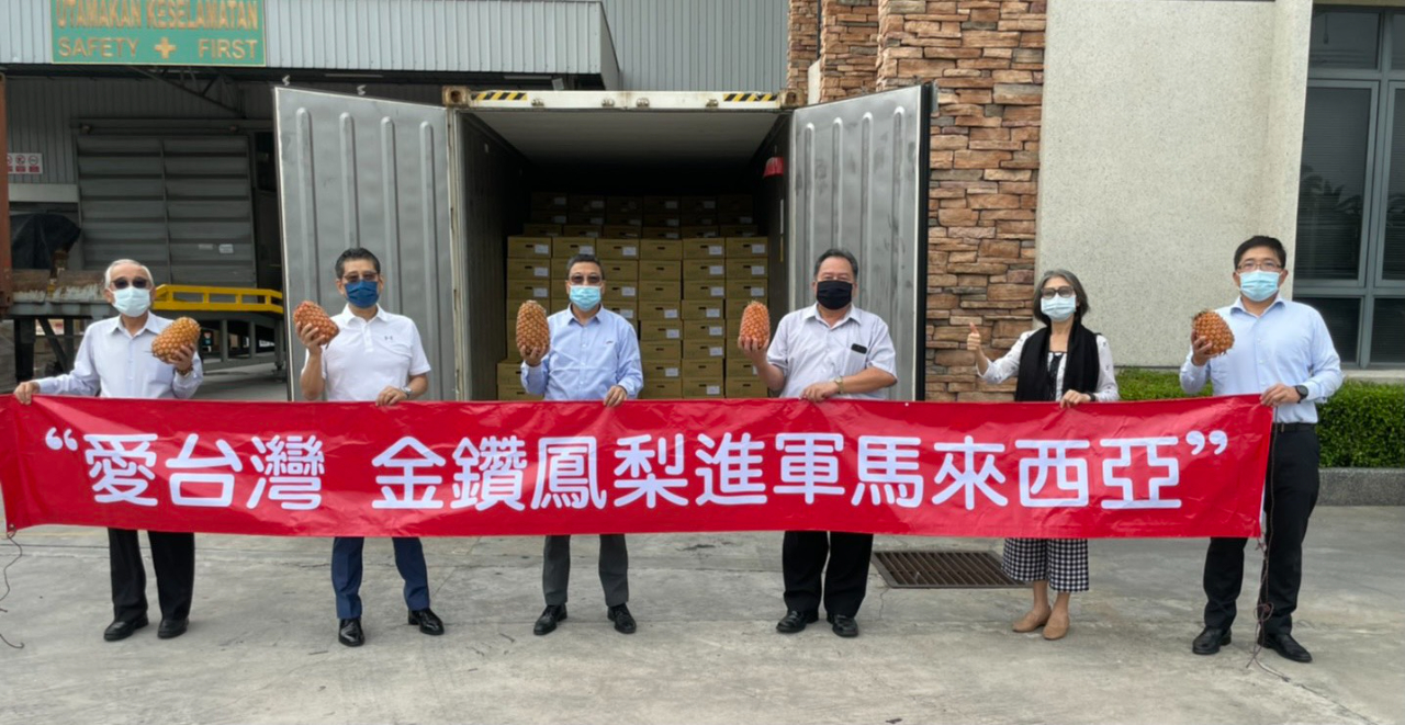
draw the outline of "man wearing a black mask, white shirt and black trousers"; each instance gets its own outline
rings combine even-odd
[[[888,325],[853,303],[858,292],[858,260],[840,249],[825,252],[815,261],[811,289],[815,305],[781,318],[770,350],[760,340],[738,340],[756,374],[767,388],[780,391],[781,398],[815,403],[830,398],[887,398],[884,389],[898,382],[896,354]],[[873,545],[873,534],[787,531],[781,549],[785,617],[776,629],[802,631],[819,620],[823,601],[835,634],[858,636],[854,617],[868,590]]]

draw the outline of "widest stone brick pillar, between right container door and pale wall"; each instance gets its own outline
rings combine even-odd
[[[976,381],[965,339],[975,323],[993,357],[1030,329],[1045,3],[880,0],[877,10],[875,89],[930,81],[939,89],[927,201],[927,399],[1009,400],[1013,381]]]

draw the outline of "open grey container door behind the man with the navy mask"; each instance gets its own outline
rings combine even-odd
[[[381,303],[420,329],[433,367],[427,398],[455,399],[448,111],[282,87],[274,105],[289,339],[292,309],[303,299],[329,315],[341,311],[336,259],[370,249],[386,280]],[[288,346],[294,399],[306,355],[299,343]]]

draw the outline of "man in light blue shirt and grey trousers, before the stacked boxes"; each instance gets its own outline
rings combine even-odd
[[[590,254],[576,254],[566,264],[566,292],[570,306],[547,318],[551,347],[530,348],[518,341],[523,355],[523,388],[548,400],[604,400],[614,407],[638,398],[643,388],[639,340],[634,325],[603,309],[604,268]],[[547,608],[532,627],[544,635],[566,618],[566,587],[570,582],[570,537],[547,537],[541,583]],[[624,534],[600,534],[600,584],[606,590],[607,617],[622,634],[634,634],[629,614],[629,554]]]

